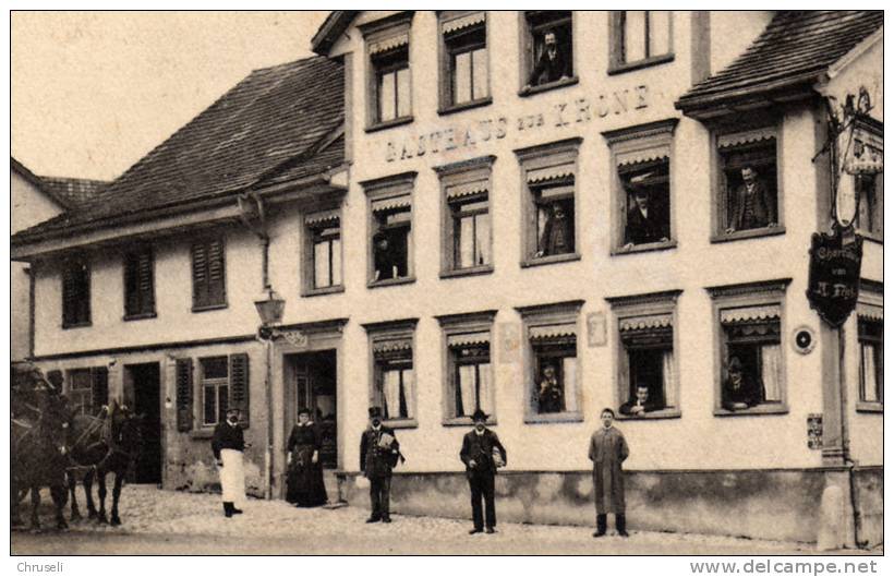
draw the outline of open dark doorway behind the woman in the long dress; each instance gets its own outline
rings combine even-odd
[[[298,409],[311,409],[313,420],[319,425],[323,447],[319,458],[323,467],[338,467],[338,425],[336,421],[336,351],[289,354],[287,360],[287,387],[289,399],[286,423],[288,431],[298,421]],[[287,431],[287,435],[288,435]]]

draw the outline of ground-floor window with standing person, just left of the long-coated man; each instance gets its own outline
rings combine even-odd
[[[527,335],[527,422],[579,421],[577,317],[583,301],[517,309]]]

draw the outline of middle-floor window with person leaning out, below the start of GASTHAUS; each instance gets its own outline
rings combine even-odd
[[[415,172],[362,183],[370,202],[370,286],[412,280]]]

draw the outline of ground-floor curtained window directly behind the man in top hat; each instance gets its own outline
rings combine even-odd
[[[363,325],[372,359],[370,402],[394,426],[415,426],[413,333],[416,320]]]

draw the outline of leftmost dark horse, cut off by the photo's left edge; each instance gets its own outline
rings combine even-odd
[[[31,492],[31,527],[40,530],[40,489],[49,486],[56,526],[67,529],[65,441],[70,414],[64,396],[34,365],[12,369],[10,505],[12,526],[21,526],[20,502]]]

